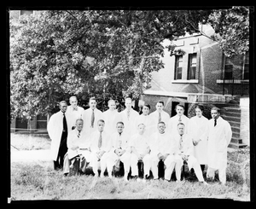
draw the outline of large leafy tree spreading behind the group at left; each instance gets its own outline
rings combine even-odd
[[[209,10],[44,11],[10,20],[11,114],[49,113],[56,102],[137,99],[163,67],[162,41],[198,31]],[[175,46],[168,46],[170,55]]]

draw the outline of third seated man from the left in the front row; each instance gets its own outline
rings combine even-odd
[[[109,152],[107,160],[108,175],[113,170],[113,165],[119,164],[119,160],[124,164],[125,181],[127,181],[128,173],[130,171],[130,158],[131,148],[128,147],[128,137],[123,132],[125,126],[124,123],[119,121],[116,125],[117,131],[114,132],[110,138],[112,140],[112,149]]]

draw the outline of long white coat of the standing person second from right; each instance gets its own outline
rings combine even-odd
[[[195,158],[199,164],[207,165],[207,136],[208,136],[208,119],[204,116],[201,118],[195,116],[189,119],[189,136],[198,144],[194,146]]]

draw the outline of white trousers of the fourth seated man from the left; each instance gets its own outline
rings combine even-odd
[[[137,167],[137,163],[138,163],[138,158],[137,155],[134,153],[131,153],[131,176],[138,176],[138,167]],[[143,157],[143,173],[144,173],[144,177],[146,175],[149,176],[149,171],[150,171],[150,155],[146,154]]]

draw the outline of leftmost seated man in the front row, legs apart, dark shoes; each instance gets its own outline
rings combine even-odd
[[[86,160],[89,159],[90,154],[81,152],[80,146],[83,144],[83,119],[76,120],[76,128],[70,131],[67,135],[67,154],[64,157],[63,172],[65,175],[69,173],[70,168],[73,168],[73,163],[77,158],[80,158],[79,169],[84,172],[86,168]]]

